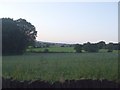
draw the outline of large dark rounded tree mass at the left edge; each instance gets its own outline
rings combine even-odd
[[[2,18],[2,54],[22,54],[36,35],[35,27],[25,19]]]

